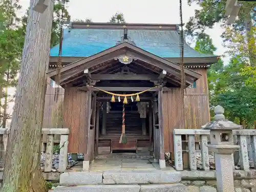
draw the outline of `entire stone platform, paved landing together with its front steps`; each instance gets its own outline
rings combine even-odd
[[[150,159],[96,159],[90,170],[77,164],[60,175],[53,192],[186,192],[182,175],[171,166],[160,169]]]

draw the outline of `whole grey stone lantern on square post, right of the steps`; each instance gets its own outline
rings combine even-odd
[[[207,146],[215,153],[217,190],[218,192],[234,192],[233,153],[240,146],[234,145],[232,130],[242,129],[242,125],[225,120],[222,106],[216,106],[214,111],[214,121],[203,125],[202,129],[210,130],[210,144]]]

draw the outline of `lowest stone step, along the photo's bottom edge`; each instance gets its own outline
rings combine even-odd
[[[53,192],[187,192],[183,184],[58,186]]]

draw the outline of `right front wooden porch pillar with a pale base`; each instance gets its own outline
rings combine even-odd
[[[163,130],[163,106],[162,106],[163,89],[158,92],[158,121],[159,121],[159,143],[160,143],[160,168],[165,168],[164,158],[164,130]]]

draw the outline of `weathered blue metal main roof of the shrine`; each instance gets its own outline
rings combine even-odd
[[[64,30],[62,56],[91,56],[116,45],[123,36],[122,29],[68,29]],[[159,57],[180,57],[180,37],[177,31],[128,30],[128,36],[136,46]],[[58,56],[59,45],[50,50],[50,56]],[[184,44],[184,57],[212,57]]]

